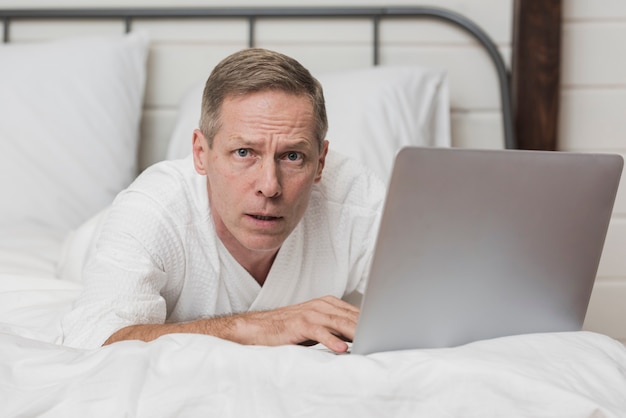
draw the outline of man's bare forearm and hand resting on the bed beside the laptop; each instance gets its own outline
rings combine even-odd
[[[181,324],[131,325],[104,343],[138,339],[150,341],[171,333],[213,335],[241,344],[284,345],[317,341],[336,352],[354,338],[359,309],[334,296],[325,296],[270,311],[249,312]]]

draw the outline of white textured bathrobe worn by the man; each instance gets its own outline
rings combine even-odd
[[[133,324],[182,322],[363,291],[385,188],[332,151],[261,287],[230,255],[192,159],[158,163],[120,193],[63,319],[64,344],[100,346]]]

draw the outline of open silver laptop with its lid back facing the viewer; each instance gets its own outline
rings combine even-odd
[[[352,354],[580,330],[622,166],[610,154],[400,150]]]

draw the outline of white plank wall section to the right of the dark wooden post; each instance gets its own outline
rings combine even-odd
[[[626,2],[563,0],[560,149],[626,157]],[[626,341],[626,176],[586,327]]]

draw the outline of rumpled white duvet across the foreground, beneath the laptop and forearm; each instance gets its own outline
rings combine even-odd
[[[626,348],[600,334],[369,356],[187,334],[78,350],[55,342],[79,291],[0,275],[0,416],[626,416]]]

